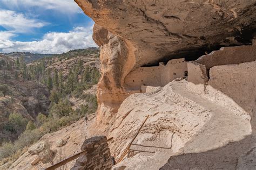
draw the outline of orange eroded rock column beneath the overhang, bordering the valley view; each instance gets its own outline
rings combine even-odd
[[[102,26],[95,24],[93,39],[100,47],[102,76],[98,83],[98,115],[96,126],[108,126],[124,99],[130,95],[124,78],[134,66],[133,46]],[[101,128],[104,129],[104,128]],[[108,128],[106,128],[108,129]]]

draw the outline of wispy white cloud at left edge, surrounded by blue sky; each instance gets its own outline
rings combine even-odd
[[[46,24],[45,22],[26,18],[22,13],[3,9],[0,10],[0,25],[6,30],[23,33],[31,31],[33,28],[43,27]]]

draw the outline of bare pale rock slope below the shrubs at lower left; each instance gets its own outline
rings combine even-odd
[[[39,141],[33,146],[33,151],[36,151],[36,148],[42,148],[38,145],[41,143],[45,143],[47,141],[51,144],[51,150],[55,152],[55,157],[53,158],[53,163],[57,163],[62,161],[71,155],[74,155],[80,152],[80,147],[83,145],[83,141],[87,136],[87,128],[92,123],[95,122],[95,115],[90,115],[87,117],[88,120],[84,121],[84,118],[80,119],[76,123],[73,123],[65,128],[58,130],[53,133],[45,134]],[[56,142],[59,139],[63,139],[66,141],[66,144],[62,147],[57,147]],[[31,147],[32,148],[32,147]],[[30,149],[32,150],[32,149]],[[36,153],[42,153],[43,149],[37,150]],[[31,152],[31,151],[30,151]],[[39,155],[41,156],[41,155]],[[45,162],[45,164],[39,160],[35,165],[31,165],[31,163],[38,159],[37,154],[31,154],[29,151],[25,152],[21,157],[19,157],[16,161],[10,162],[10,164],[4,164],[0,166],[0,169],[44,169],[46,167],[51,166],[50,162]],[[41,157],[39,157],[41,159]],[[75,160],[69,162],[68,164],[62,166],[64,169],[70,169],[75,165]]]

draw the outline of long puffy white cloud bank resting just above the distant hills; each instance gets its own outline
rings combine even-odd
[[[6,38],[8,33],[2,32]],[[9,34],[9,38],[13,36]],[[0,32],[1,37],[1,32]],[[4,37],[4,36],[3,36]],[[4,39],[4,38],[2,38]],[[0,41],[2,52],[32,52],[32,53],[63,53],[71,49],[97,47],[92,39],[92,27],[76,27],[70,32],[51,32],[44,35],[41,41],[11,41],[5,39]]]

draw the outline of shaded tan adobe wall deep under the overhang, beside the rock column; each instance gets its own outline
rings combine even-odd
[[[130,89],[140,89],[145,86],[165,86],[174,79],[184,76],[187,71],[185,59],[173,59],[166,65],[139,67],[125,77],[125,84]]]

